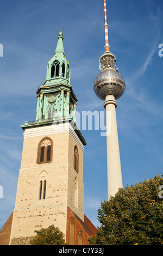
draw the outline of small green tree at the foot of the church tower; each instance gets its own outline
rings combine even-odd
[[[36,235],[34,236],[31,245],[66,245],[64,234],[55,228],[54,225],[48,228],[42,228],[41,230],[35,230]]]

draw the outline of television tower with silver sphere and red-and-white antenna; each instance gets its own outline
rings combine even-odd
[[[116,100],[122,96],[126,86],[124,78],[115,66],[116,57],[110,52],[106,14],[106,0],[104,0],[105,52],[99,58],[101,73],[95,78],[93,89],[99,99],[104,100],[104,108],[106,109],[108,200],[110,200],[111,196],[115,196],[118,188],[123,187],[116,121]]]

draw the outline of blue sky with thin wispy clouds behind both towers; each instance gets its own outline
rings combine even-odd
[[[0,44],[0,228],[14,210],[21,165],[24,121],[35,120],[36,90],[46,80],[58,29],[70,60],[77,110],[104,111],[93,92],[104,53],[103,0],[1,1]],[[110,51],[126,81],[117,100],[123,187],[163,173],[162,0],[107,0]],[[101,131],[82,131],[85,215],[96,226],[101,200],[107,200],[106,138]]]

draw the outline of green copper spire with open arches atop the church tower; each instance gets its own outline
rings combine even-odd
[[[70,65],[65,58],[63,29],[59,29],[57,47],[48,59],[46,81],[37,89],[35,121],[23,127],[51,125],[53,121],[73,121],[76,124],[78,98],[70,84]]]

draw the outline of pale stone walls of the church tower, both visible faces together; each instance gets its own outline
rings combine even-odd
[[[69,125],[69,124],[68,124]],[[53,131],[40,127],[24,133],[21,169],[18,176],[15,209],[13,213],[10,243],[27,242],[35,230],[54,224],[66,239],[67,205],[84,219],[83,151],[79,149],[79,173],[73,168],[74,145],[78,145],[69,130]],[[41,135],[42,133],[42,135]],[[45,134],[44,134],[45,133]],[[53,157],[50,163],[37,163],[39,142],[49,137],[53,141]],[[74,207],[74,179],[78,177],[78,208]],[[39,200],[40,179],[47,181],[46,199]],[[21,237],[21,239],[20,239]],[[15,241],[15,242],[14,242]]]

